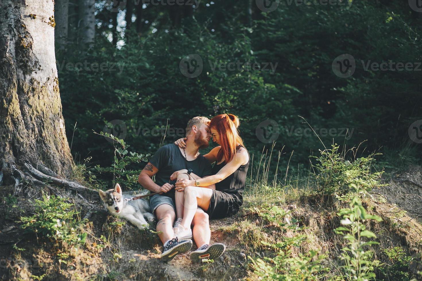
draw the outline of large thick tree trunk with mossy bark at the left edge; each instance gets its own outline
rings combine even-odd
[[[0,182],[15,182],[15,187],[30,177],[27,164],[60,177],[68,177],[74,166],[59,94],[54,25],[53,0],[0,2]]]

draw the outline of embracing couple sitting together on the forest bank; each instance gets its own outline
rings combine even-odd
[[[150,206],[158,220],[162,260],[170,261],[177,254],[188,252],[192,236],[198,246],[190,254],[194,262],[215,260],[225,251],[224,244],[209,245],[208,218],[235,214],[243,203],[249,154],[238,126],[239,119],[232,114],[217,115],[211,120],[192,118],[187,123],[186,142],[179,139],[174,145],[161,147],[139,174],[143,187],[161,192],[151,196]],[[201,155],[198,150],[208,147],[211,138],[219,146]],[[151,179],[154,175],[155,183]]]

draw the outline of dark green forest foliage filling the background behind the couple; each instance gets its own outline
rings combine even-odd
[[[124,28],[119,32],[125,44],[120,49],[106,39],[112,27],[101,10],[94,47],[80,52],[69,45],[68,51],[57,54],[59,64],[108,64],[104,71],[58,65],[69,142],[77,122],[72,145],[76,161],[92,156],[94,165],[113,162],[112,147],[92,134],[92,129],[105,131],[112,120],[124,122],[124,141],[134,151],[154,153],[163,142],[183,137],[167,131],[163,140],[165,128],[184,129],[197,115],[233,113],[240,118],[241,135],[251,155],[260,155],[264,145],[271,145],[258,139],[257,126],[268,119],[278,123],[274,150],[284,147],[286,153],[281,155],[279,171],[285,170],[292,151],[289,171],[295,173],[307,169],[308,155],[322,149],[298,115],[315,128],[326,146],[368,139],[366,155],[385,150],[389,155],[385,160],[380,156],[380,169],[395,165],[390,162],[397,154],[406,165],[414,163],[407,159],[420,153],[420,145],[409,139],[407,131],[410,123],[422,119],[422,72],[366,71],[361,62],[422,61],[420,19],[407,3],[353,1],[349,7],[280,1],[275,11],[263,13],[254,2],[250,18],[247,2],[209,6],[201,2],[193,16],[178,24],[170,20],[164,6],[149,5],[144,9],[148,23],[142,32]],[[189,54],[203,60],[203,70],[195,78],[185,77],[179,69],[181,59]],[[333,60],[341,54],[356,60],[349,78],[339,78],[332,70]],[[230,62],[240,62],[240,67],[213,70]],[[270,71],[247,70],[246,62],[277,67],[274,72],[269,66]],[[122,68],[111,69],[111,63]],[[148,133],[154,129],[156,134]]]

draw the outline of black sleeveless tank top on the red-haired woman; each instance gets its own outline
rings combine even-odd
[[[236,150],[238,150],[240,147],[243,146],[238,145]],[[212,168],[212,174],[215,175],[218,173],[218,171],[220,171],[225,165],[226,161],[223,161],[220,164],[215,163],[214,167]],[[222,192],[235,194],[239,197],[239,199],[243,199],[242,193],[246,184],[246,173],[248,172],[248,168],[249,161],[245,165],[241,165],[236,171],[223,179],[221,182],[217,182],[215,184],[215,189]]]

